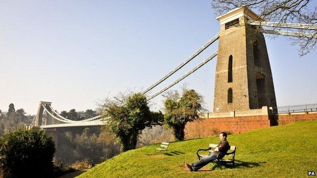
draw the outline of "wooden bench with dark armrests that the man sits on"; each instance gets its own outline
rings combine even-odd
[[[214,152],[214,149],[218,147],[218,145],[216,144],[209,144],[209,148],[208,149],[199,149],[197,151],[197,156],[198,156],[198,159],[200,160],[202,157],[205,157],[205,156],[208,156],[210,154],[212,154]],[[200,151],[209,151],[209,154],[208,155],[201,155],[199,154],[198,152]],[[235,146],[230,146],[230,150],[228,150],[228,152],[226,153],[226,155],[223,155],[223,154],[219,154],[216,161],[218,162],[220,168],[221,168],[221,164],[228,164],[228,163],[231,163],[233,166],[235,165],[234,163],[234,158],[235,158],[235,154],[236,154],[236,147]],[[231,156],[232,158],[231,159],[226,159],[226,157],[224,156]],[[221,158],[223,157],[223,158]],[[228,158],[228,157],[227,157]]]

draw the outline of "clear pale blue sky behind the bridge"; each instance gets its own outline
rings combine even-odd
[[[83,111],[126,88],[145,89],[219,31],[215,17],[210,1],[0,1],[0,109],[14,103],[35,114],[44,100],[59,112]],[[317,102],[317,52],[299,58],[282,36],[266,43],[277,104]],[[209,110],[215,61],[184,80]],[[161,109],[162,99],[152,107]]]

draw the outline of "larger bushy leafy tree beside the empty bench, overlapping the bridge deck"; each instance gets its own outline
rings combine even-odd
[[[112,99],[106,99],[102,113],[109,116],[109,131],[121,144],[121,151],[136,148],[137,138],[146,127],[163,121],[161,112],[151,112],[146,97],[141,93],[120,93]]]

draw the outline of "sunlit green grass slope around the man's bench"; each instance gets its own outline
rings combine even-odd
[[[217,144],[218,137],[171,143],[168,154],[151,145],[131,150],[93,167],[79,177],[306,177],[317,171],[317,121],[228,135],[237,146],[236,166],[189,172],[183,162],[197,161],[196,151]]]

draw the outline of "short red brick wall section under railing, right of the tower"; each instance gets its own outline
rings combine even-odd
[[[297,121],[317,120],[317,113],[295,114],[295,115],[278,115],[278,125],[285,125]]]

